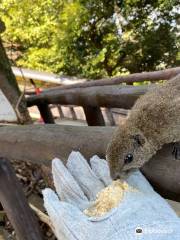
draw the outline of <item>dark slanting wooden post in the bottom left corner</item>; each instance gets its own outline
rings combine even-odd
[[[30,209],[10,162],[0,157],[0,202],[18,240],[42,240],[38,221]]]

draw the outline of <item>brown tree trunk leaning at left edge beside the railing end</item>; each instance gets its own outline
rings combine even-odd
[[[15,76],[12,73],[11,66],[5,53],[2,41],[0,39],[0,89],[12,105],[18,122],[21,124],[29,123],[30,116],[26,108],[24,96],[18,88]]]

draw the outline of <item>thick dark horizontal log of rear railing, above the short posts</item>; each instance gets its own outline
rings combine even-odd
[[[129,109],[140,95],[154,85],[143,86],[104,86],[75,88],[61,91],[52,89],[27,98],[28,107],[38,104],[62,104],[89,107]]]

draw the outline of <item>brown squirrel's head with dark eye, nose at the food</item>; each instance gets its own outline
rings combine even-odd
[[[140,168],[154,154],[152,145],[142,132],[123,124],[110,141],[106,158],[113,179],[124,178],[133,169]]]

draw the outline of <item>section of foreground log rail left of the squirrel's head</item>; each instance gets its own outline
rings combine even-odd
[[[86,157],[104,156],[112,127],[81,127],[56,124],[1,126],[0,153],[8,159],[50,165],[54,157],[65,160],[71,151]],[[103,139],[103,141],[102,141]]]

